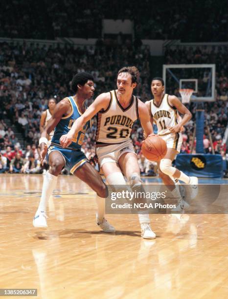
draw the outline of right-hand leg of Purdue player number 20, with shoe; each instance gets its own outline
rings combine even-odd
[[[122,153],[118,159],[118,164],[123,174],[127,177],[131,188],[142,192],[142,181],[136,154],[134,152]],[[141,225],[141,236],[146,239],[154,239],[156,235],[150,228],[149,214],[146,211],[145,213],[140,213],[138,214],[138,219]]]

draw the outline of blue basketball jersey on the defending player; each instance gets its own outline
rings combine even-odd
[[[71,112],[67,116],[64,116],[61,118],[58,125],[55,127],[54,135],[51,139],[52,145],[60,145],[60,137],[62,135],[65,135],[68,133],[70,128],[73,126],[73,123],[77,118],[79,118],[82,114],[79,112],[78,107],[76,103],[74,102],[74,99],[72,97],[68,97],[68,100],[71,104]],[[83,127],[83,130],[79,131],[73,136],[72,143],[69,145],[68,149],[78,149],[81,150],[82,143],[84,140],[84,136],[86,133],[86,130],[90,128],[90,121],[88,121],[85,126]]]

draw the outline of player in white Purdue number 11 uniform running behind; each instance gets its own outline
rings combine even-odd
[[[185,184],[191,185],[191,198],[194,198],[198,192],[198,178],[196,176],[188,176],[172,167],[175,156],[181,150],[181,128],[191,119],[192,115],[176,96],[164,94],[164,81],[162,78],[155,77],[152,79],[151,91],[154,99],[145,104],[151,115],[151,123],[156,123],[158,135],[167,145],[167,153],[158,163],[159,175],[163,183],[171,188],[171,192],[177,198],[178,205],[176,212],[180,212],[180,210],[183,210],[184,205],[187,206],[187,204],[182,200],[182,196],[179,189],[176,188],[174,180],[178,179]],[[183,118],[179,116],[178,112],[183,114]],[[175,212],[175,209],[173,212]]]

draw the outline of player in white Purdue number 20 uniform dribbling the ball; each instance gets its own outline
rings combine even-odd
[[[138,80],[139,71],[135,66],[121,68],[117,75],[117,89],[100,94],[77,119],[68,134],[60,139],[64,148],[69,146],[73,135],[97,114],[96,154],[110,185],[126,185],[123,175],[132,188],[140,188],[142,185],[130,133],[134,121],[138,118],[146,136],[153,133],[153,128],[146,105],[133,95]],[[149,215],[138,214],[138,218],[141,236],[155,238],[156,235],[150,228]]]

